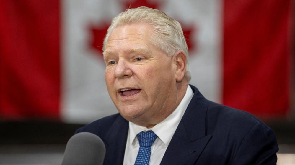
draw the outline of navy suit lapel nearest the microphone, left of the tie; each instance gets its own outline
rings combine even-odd
[[[128,129],[128,121],[119,115],[105,136],[107,146],[104,165],[123,164]]]

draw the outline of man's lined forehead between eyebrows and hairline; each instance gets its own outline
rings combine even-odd
[[[107,40],[105,52],[116,49],[151,49],[151,29],[152,26],[146,23],[115,27]]]

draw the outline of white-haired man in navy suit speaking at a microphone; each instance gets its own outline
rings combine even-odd
[[[188,85],[188,47],[180,24],[165,13],[139,7],[119,14],[103,51],[107,90],[119,114],[76,133],[104,141],[105,165],[276,164],[268,126]]]

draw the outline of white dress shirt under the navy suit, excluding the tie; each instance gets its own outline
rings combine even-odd
[[[177,108],[159,124],[148,129],[143,126],[136,125],[129,121],[129,131],[127,136],[124,163],[123,165],[133,165],[139,150],[139,142],[136,135],[141,131],[152,130],[158,136],[151,146],[151,157],[149,164],[159,165],[165,154],[165,151],[172,139],[172,136],[186,110],[190,100],[193,98],[193,90],[188,85],[185,96],[181,100]]]

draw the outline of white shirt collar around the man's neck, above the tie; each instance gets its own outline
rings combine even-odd
[[[168,146],[192,98],[193,98],[193,90],[188,85],[188,88],[185,92],[185,96],[182,98],[177,108],[166,119],[164,119],[163,121],[161,121],[160,123],[158,123],[151,129],[148,129],[144,126],[136,125],[129,121],[129,140],[132,142],[132,145],[135,145],[136,135],[139,132],[152,130],[159,137],[159,139],[165,144],[165,146]]]

